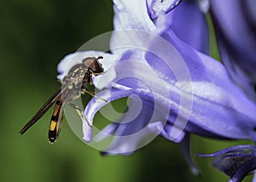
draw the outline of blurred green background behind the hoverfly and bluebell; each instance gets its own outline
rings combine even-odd
[[[113,30],[107,0],[0,1],[0,181],[227,181],[211,159],[195,157],[202,176],[190,173],[179,145],[158,137],[132,156],[101,156],[63,123],[54,145],[47,113],[26,134],[19,131],[55,89],[56,65],[90,38]],[[192,136],[192,153],[237,142]],[[252,176],[244,181],[250,181]]]

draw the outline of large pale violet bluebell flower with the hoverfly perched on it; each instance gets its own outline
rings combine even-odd
[[[103,90],[90,100],[84,111],[86,142],[110,138],[109,145],[101,151],[108,155],[128,155],[161,135],[181,143],[192,171],[199,173],[189,155],[190,133],[215,139],[256,141],[256,105],[232,82],[224,65],[207,55],[205,26],[199,29],[202,32],[199,44],[195,38],[178,33],[178,20],[182,19],[175,16],[180,14],[175,10],[184,9],[185,5],[177,6],[179,1],[156,0],[114,0],[113,3],[115,31],[110,42],[111,54],[96,53],[103,54],[106,72],[95,77],[94,84]],[[195,11],[195,17],[201,17],[198,14]],[[196,31],[191,36],[198,37]],[[61,61],[60,78],[71,61],[69,58],[75,56],[72,54]],[[104,63],[108,60],[113,65],[106,68]],[[113,100],[127,97],[129,110],[119,115],[119,119],[111,120],[113,123],[92,138],[96,112]]]

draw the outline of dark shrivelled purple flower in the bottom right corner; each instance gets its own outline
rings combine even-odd
[[[213,157],[213,166],[229,175],[230,182],[240,182],[249,173],[256,170],[255,145],[236,145],[213,154],[198,156]]]

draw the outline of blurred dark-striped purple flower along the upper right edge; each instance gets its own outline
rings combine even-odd
[[[256,101],[256,1],[212,0],[218,48],[233,81]]]

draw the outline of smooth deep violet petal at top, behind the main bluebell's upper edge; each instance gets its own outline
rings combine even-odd
[[[167,14],[166,23],[184,43],[209,54],[207,20],[198,6],[194,1],[181,3]]]

